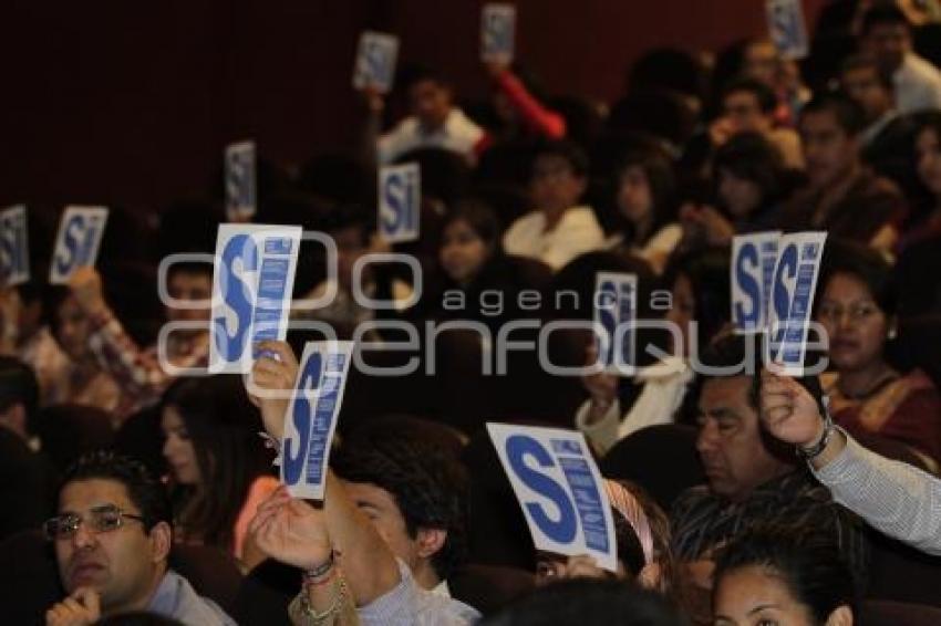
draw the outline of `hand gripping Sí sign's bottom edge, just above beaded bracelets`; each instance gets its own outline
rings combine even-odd
[[[258,507],[248,530],[265,554],[302,570],[323,565],[333,550],[324,511],[291,498],[283,486]]]

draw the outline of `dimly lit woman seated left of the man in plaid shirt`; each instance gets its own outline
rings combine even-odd
[[[51,295],[52,331],[62,352],[69,356],[69,366],[53,382],[48,400],[56,404],[93,406],[113,411],[121,398],[121,389],[95,359],[89,347],[92,335],[91,320],[79,306],[68,288],[55,288]],[[116,421],[114,426],[118,426]]]

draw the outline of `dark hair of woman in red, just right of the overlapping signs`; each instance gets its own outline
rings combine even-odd
[[[827,241],[820,273],[819,295],[836,274],[849,274],[866,285],[882,313],[887,316],[896,314],[892,267],[871,248],[855,241]]]

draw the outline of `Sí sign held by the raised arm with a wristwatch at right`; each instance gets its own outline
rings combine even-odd
[[[768,311],[771,359],[800,376],[826,232],[785,234],[778,241]]]

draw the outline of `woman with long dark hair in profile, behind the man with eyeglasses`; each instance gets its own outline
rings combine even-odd
[[[278,479],[259,446],[261,420],[241,379],[178,380],[164,396],[161,427],[176,536],[216,545],[250,570],[262,556],[246,541],[246,531]]]

